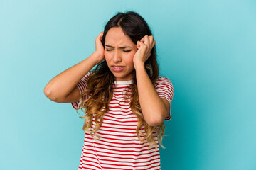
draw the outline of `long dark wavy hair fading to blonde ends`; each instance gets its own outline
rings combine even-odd
[[[105,47],[105,37],[107,31],[113,27],[121,27],[126,35],[131,38],[134,44],[137,43],[138,40],[141,40],[144,35],[152,35],[151,30],[149,29],[148,24],[144,21],[142,16],[139,16],[138,13],[133,11],[128,11],[127,13],[117,13],[114,17],[107,22],[104,33],[102,36],[102,45]],[[156,47],[154,46],[151,50],[151,56],[145,62],[145,69],[147,74],[149,75],[149,79],[152,84],[156,83],[156,80],[159,77],[159,66],[156,61]],[[150,126],[144,120],[144,116],[142,114],[142,109],[139,104],[139,94],[137,88],[137,80],[135,70],[132,72],[132,85],[128,86],[127,89],[131,92],[131,100],[130,100],[130,108],[132,112],[137,116],[137,137],[141,142],[145,140],[149,142],[149,147],[152,145],[157,149],[157,143],[154,141],[154,132],[158,137],[159,145],[165,149],[162,145],[162,139],[164,137],[164,123],[158,126]],[[100,64],[97,64],[95,69],[92,69],[92,74],[87,79],[87,89],[80,94],[80,98],[85,95],[89,95],[90,97],[82,100],[82,103],[79,108],[85,113],[85,116],[80,116],[80,118],[85,118],[85,123],[83,125],[83,130],[87,130],[90,132],[90,128],[92,125],[92,118],[95,116],[95,128],[90,132],[90,135],[95,139],[95,136],[99,138],[97,135],[97,130],[100,129],[100,126],[103,122],[103,115],[107,113],[109,110],[108,104],[112,100],[113,89],[114,89],[114,75],[107,67],[107,62],[103,60]],[[79,109],[78,108],[78,109]],[[85,111],[82,109],[85,108]],[[98,122],[100,120],[100,122]],[[144,131],[146,134],[142,133],[140,129],[144,126]],[[94,134],[95,136],[93,136]],[[140,137],[140,135],[143,136]]]

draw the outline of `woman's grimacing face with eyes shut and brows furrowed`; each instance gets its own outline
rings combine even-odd
[[[132,79],[133,57],[137,46],[121,27],[110,28],[105,37],[105,60],[114,74],[115,81]]]

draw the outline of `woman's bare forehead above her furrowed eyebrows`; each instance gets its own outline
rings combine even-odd
[[[129,36],[124,34],[124,31],[121,27],[113,27],[107,31],[105,44],[117,46],[134,45]]]

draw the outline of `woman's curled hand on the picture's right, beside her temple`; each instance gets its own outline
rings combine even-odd
[[[136,69],[139,64],[144,64],[151,55],[151,50],[156,44],[153,36],[145,35],[141,40],[137,41],[137,52],[134,54],[133,62]]]

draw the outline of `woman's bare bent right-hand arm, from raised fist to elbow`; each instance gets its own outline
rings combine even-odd
[[[151,126],[160,125],[168,116],[170,103],[165,98],[160,98],[146,73],[144,63],[150,57],[151,49],[155,45],[153,36],[145,35],[137,42],[137,52],[134,55],[134,68],[139,91],[139,103],[146,123]]]

